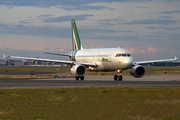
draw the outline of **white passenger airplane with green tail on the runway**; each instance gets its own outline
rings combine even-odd
[[[142,64],[157,63],[165,61],[175,61],[174,59],[148,60],[133,62],[133,58],[128,50],[124,48],[98,48],[98,49],[83,49],[76,27],[75,20],[71,20],[72,27],[72,47],[73,51],[69,54],[44,52],[45,54],[67,56],[71,61],[53,60],[42,58],[29,58],[19,56],[5,56],[8,58],[26,59],[35,61],[47,61],[55,63],[65,63],[70,66],[70,72],[75,76],[76,80],[84,80],[84,75],[87,70],[90,71],[117,71],[114,74],[114,80],[122,81],[122,71],[130,69],[130,74],[135,78],[143,77],[145,68]]]

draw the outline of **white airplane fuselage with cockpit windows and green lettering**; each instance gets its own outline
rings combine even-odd
[[[74,54],[77,62],[96,63],[91,70],[114,71],[132,67],[133,58],[123,48],[83,49]]]

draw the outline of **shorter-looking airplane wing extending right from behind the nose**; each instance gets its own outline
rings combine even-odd
[[[136,64],[146,64],[146,63],[157,63],[157,62],[167,62],[167,61],[176,61],[177,57],[175,57],[174,59],[162,59],[162,60],[149,60],[149,61],[137,61],[137,62],[133,62],[134,65]]]

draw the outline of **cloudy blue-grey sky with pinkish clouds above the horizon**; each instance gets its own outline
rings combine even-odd
[[[0,58],[67,59],[42,52],[72,51],[72,19],[83,48],[180,61],[180,0],[1,0]]]

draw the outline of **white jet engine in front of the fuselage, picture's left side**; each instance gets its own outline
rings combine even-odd
[[[76,77],[84,76],[86,73],[86,67],[84,65],[74,65],[70,69],[71,73]]]

